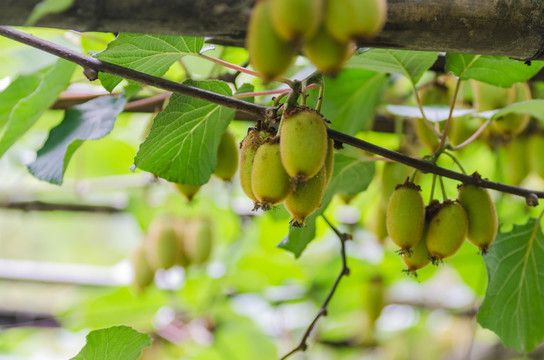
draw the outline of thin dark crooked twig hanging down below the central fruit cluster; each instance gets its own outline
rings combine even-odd
[[[334,284],[332,285],[331,290],[329,291],[329,294],[327,295],[327,297],[325,298],[325,300],[321,304],[321,307],[319,308],[319,311],[317,312],[317,315],[315,316],[315,318],[312,320],[312,322],[310,323],[310,325],[308,326],[308,328],[304,332],[304,335],[302,336],[302,339],[300,340],[299,344],[293,350],[291,350],[287,354],[285,354],[281,358],[281,360],[287,359],[289,356],[293,355],[296,352],[306,351],[306,349],[308,348],[308,344],[306,344],[306,341],[308,341],[308,337],[310,336],[310,333],[314,329],[314,327],[317,324],[317,321],[319,320],[319,318],[321,318],[322,316],[327,315],[327,306],[329,305],[329,302],[331,301],[334,293],[336,292],[336,288],[338,287],[338,284],[340,283],[340,280],[342,280],[342,278],[344,276],[349,275],[349,267],[347,265],[347,259],[346,259],[346,245],[345,245],[345,242],[347,240],[351,239],[351,235],[340,232],[333,224],[331,224],[329,222],[329,220],[325,217],[325,215],[321,214],[321,217],[323,217],[323,219],[329,225],[329,227],[332,229],[332,231],[334,231],[336,236],[338,236],[338,239],[340,239],[340,246],[341,246],[340,255],[342,257],[342,270],[340,271],[340,274],[338,274],[338,277],[334,281]]]

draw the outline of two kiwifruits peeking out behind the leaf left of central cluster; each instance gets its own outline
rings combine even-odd
[[[217,148],[217,165],[213,174],[219,179],[229,182],[238,170],[238,144],[230,131],[225,131]],[[187,200],[192,201],[200,190],[200,186],[191,184],[174,184],[175,189]]]

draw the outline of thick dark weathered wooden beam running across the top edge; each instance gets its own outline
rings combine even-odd
[[[4,0],[0,24],[23,25],[39,0]],[[79,31],[210,36],[243,46],[254,0],[74,0],[37,25]],[[372,43],[382,48],[544,60],[544,2],[388,0],[388,21]]]

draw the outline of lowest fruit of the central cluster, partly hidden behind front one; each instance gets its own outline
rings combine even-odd
[[[285,208],[291,216],[293,227],[302,227],[304,220],[315,210],[321,207],[321,199],[325,192],[326,170],[325,167],[316,176],[300,184],[296,190],[285,198]]]

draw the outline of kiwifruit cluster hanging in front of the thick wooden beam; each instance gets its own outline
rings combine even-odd
[[[270,81],[302,48],[319,71],[335,74],[355,41],[368,41],[382,29],[386,12],[386,0],[259,0],[247,35],[251,65]]]

